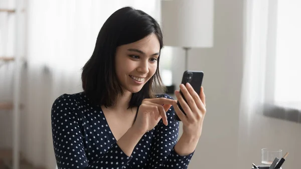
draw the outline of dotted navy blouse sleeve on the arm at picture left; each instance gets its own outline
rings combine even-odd
[[[54,153],[58,168],[122,168],[130,160],[114,143],[105,153],[88,161],[84,150],[77,102],[72,95],[57,98],[51,110]]]

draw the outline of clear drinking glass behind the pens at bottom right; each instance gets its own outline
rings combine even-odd
[[[282,158],[282,149],[261,149],[261,163],[262,165],[271,165],[275,157]]]

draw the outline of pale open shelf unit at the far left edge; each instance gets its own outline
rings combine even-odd
[[[16,8],[15,9],[6,9],[0,8],[0,13],[6,13],[6,16],[15,15],[15,44],[14,44],[14,56],[0,56],[0,66],[3,66],[9,62],[13,62],[14,64],[14,84],[12,86],[13,91],[13,100],[0,102],[0,113],[1,111],[11,111],[12,112],[12,128],[13,128],[13,141],[12,141],[12,150],[11,149],[0,149],[0,164],[1,162],[5,163],[5,166],[8,168],[19,169],[20,168],[20,161],[21,161],[21,154],[20,154],[20,80],[21,80],[21,52],[20,49],[22,48],[22,40],[24,33],[22,32],[22,15],[24,15],[25,10],[22,9],[19,0],[16,0]],[[8,26],[5,24],[4,26]],[[8,30],[8,29],[7,29]],[[9,30],[12,31],[12,30]],[[6,42],[4,42],[6,44]],[[6,46],[4,47],[6,50]],[[1,167],[1,166],[0,166]]]

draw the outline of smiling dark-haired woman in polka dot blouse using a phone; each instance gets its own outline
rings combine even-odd
[[[202,131],[203,88],[180,85],[187,104],[164,92],[159,74],[162,32],[154,18],[125,7],[101,28],[83,67],[83,92],[52,107],[58,168],[187,168]],[[179,122],[183,135],[179,139]]]

